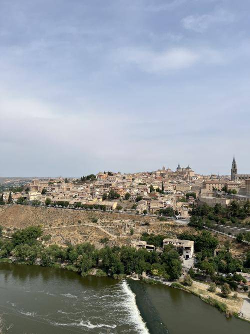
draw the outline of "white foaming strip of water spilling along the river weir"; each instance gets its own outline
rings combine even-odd
[[[135,294],[129,288],[125,280],[121,282],[121,287],[123,293],[125,294],[125,302],[126,302],[125,307],[128,310],[130,321],[133,322],[135,328],[138,330],[138,333],[149,334],[149,331],[146,328],[146,324],[143,321],[139,309],[136,305]]]

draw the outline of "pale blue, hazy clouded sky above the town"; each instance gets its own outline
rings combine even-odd
[[[0,176],[250,174],[249,0],[0,0]]]

